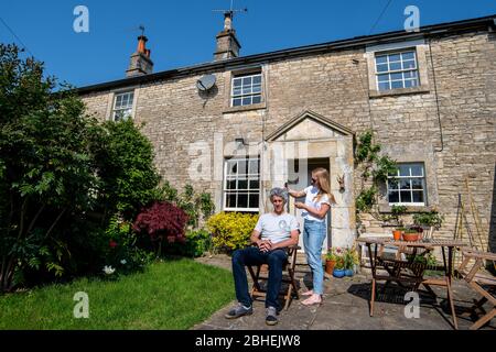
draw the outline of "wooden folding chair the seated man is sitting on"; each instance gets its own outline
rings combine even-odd
[[[284,296],[284,309],[289,308],[293,295],[296,297],[296,299],[300,299],[300,295],[298,294],[298,285],[294,279],[294,268],[296,265],[298,250],[300,250],[299,245],[288,248],[288,261],[282,266],[282,284],[288,284],[288,288],[285,290],[281,290],[279,295]],[[267,284],[267,280],[269,279],[269,266],[267,264],[248,266],[248,271],[254,280],[251,297],[254,299],[256,299],[257,297],[266,297],[267,290],[262,289],[260,283],[266,282]]]

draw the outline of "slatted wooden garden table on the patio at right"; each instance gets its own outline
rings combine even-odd
[[[453,327],[455,329],[459,328],[456,321],[456,314],[453,304],[453,292],[451,288],[452,273],[453,273],[453,250],[455,248],[462,248],[465,244],[461,241],[455,240],[430,240],[429,242],[424,241],[395,241],[391,239],[385,238],[358,238],[358,242],[365,243],[368,249],[368,255],[370,260],[370,268],[371,268],[371,297],[370,297],[370,317],[374,316],[374,301],[376,296],[376,280],[385,280],[386,285],[390,282],[396,282],[398,285],[405,287],[403,283],[413,284],[412,290],[417,290],[420,285],[423,285],[429,293],[431,293],[435,297],[435,293],[430,287],[434,286],[443,286],[446,287],[448,293],[448,301],[450,304],[451,314],[453,316]],[[374,250],[371,245],[375,244]],[[397,257],[396,260],[385,258],[381,255],[382,249],[385,245],[397,246],[399,250],[401,249],[410,249],[412,252],[412,260],[401,260]],[[378,255],[378,248],[379,255]],[[418,263],[414,262],[413,258],[416,255],[425,255],[430,253],[434,248],[441,248],[441,252],[443,255],[443,278],[424,278],[424,272],[428,267],[427,263]],[[448,250],[448,258],[446,258],[446,250]],[[377,267],[382,267],[387,274],[378,274]]]

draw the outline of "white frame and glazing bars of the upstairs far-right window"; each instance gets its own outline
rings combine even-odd
[[[408,62],[411,59],[403,59],[403,54],[407,53],[413,53],[413,62],[414,62],[414,67],[413,68],[403,68],[403,62]],[[390,61],[389,57],[392,55],[400,55],[400,59],[399,62],[392,62],[392,63],[399,63],[401,65],[402,68],[400,69],[390,69]],[[379,65],[385,65],[384,63],[380,64],[377,62],[378,57],[384,57],[386,56],[387,61],[386,61],[386,65],[388,66],[388,69],[386,72],[378,72],[378,66]],[[419,88],[422,86],[421,79],[420,79],[420,69],[419,69],[419,57],[418,57],[418,53],[417,53],[417,48],[416,47],[403,47],[403,48],[398,48],[398,50],[393,50],[393,51],[382,51],[382,52],[375,52],[374,53],[374,72],[375,72],[375,79],[376,79],[376,89],[378,92],[380,94],[387,94],[388,91],[392,91],[395,89],[410,89],[410,88]],[[405,78],[405,73],[416,73],[416,78]],[[391,75],[392,74],[401,74],[401,79],[392,79]],[[379,81],[379,76],[381,75],[388,75],[388,80],[386,81]],[[392,87],[392,82],[393,81],[401,81],[401,87]],[[416,86],[410,86],[407,87],[406,82],[407,81],[417,81]],[[388,82],[389,84],[389,88],[388,89],[380,89],[380,84],[381,82]]]

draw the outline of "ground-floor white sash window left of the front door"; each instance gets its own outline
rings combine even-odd
[[[224,210],[257,211],[260,202],[260,158],[230,158],[224,169]]]

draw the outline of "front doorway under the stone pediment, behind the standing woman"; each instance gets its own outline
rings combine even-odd
[[[317,157],[317,158],[306,158],[306,160],[288,160],[288,187],[293,190],[303,190],[310,186],[310,179],[312,177],[312,170],[317,167],[324,167],[330,170],[330,160],[328,157]],[[301,216],[302,210],[294,207],[295,201],[305,201],[305,197],[301,198],[290,198],[288,202],[288,212],[293,215],[298,222],[300,223],[300,229],[303,234],[303,218]],[[322,245],[322,251],[325,253],[328,248],[332,246],[332,235],[331,235],[331,211],[327,212],[326,219],[327,235]],[[303,251],[303,235],[300,235],[299,245]]]

